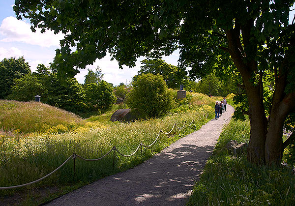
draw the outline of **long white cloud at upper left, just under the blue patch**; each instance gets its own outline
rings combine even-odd
[[[36,28],[36,32],[32,32],[30,24],[15,17],[6,17],[3,19],[0,27],[0,34],[4,36],[2,42],[23,42],[41,47],[59,46],[59,40],[64,34],[54,34],[53,31],[47,30],[41,33],[41,29]]]

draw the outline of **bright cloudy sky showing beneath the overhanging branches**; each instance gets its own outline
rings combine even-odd
[[[26,62],[29,62],[31,71],[35,71],[38,64],[42,63],[49,66],[55,57],[55,50],[60,48],[59,40],[63,34],[54,34],[53,31],[47,30],[41,33],[36,29],[32,32],[28,19],[17,20],[13,11],[14,0],[0,0],[0,60],[4,58],[19,58],[24,56]],[[169,57],[163,57],[167,63],[177,65],[179,53],[175,52]],[[141,60],[137,59],[135,67],[123,66],[119,69],[118,61],[111,61],[110,55],[96,61],[81,69],[75,77],[79,83],[83,84],[85,75],[88,70],[94,70],[97,66],[104,73],[103,80],[112,83],[114,86],[120,83],[129,83],[132,77],[137,75],[140,70]]]

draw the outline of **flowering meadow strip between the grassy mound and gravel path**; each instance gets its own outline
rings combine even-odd
[[[198,95],[201,94],[193,94],[193,97]],[[44,177],[74,152],[85,158],[94,159],[103,156],[113,146],[116,146],[123,154],[130,154],[140,143],[151,144],[160,130],[168,132],[174,123],[181,127],[183,124],[188,125],[194,119],[190,127],[185,126],[181,131],[176,130],[173,135],[161,134],[152,147],[143,148],[142,152],[139,151],[131,157],[123,157],[116,152],[115,167],[113,167],[113,152],[99,161],[87,162],[77,158],[75,174],[73,160],[70,160],[57,173],[41,182],[19,189],[0,190],[0,195],[11,195],[44,185],[58,187],[69,185],[71,188],[76,188],[77,185],[85,185],[99,178],[132,168],[177,139],[198,130],[213,118],[213,108],[207,104],[214,105],[214,100],[208,97],[202,98],[206,103],[192,102],[185,109],[182,105],[183,110],[172,110],[163,118],[130,123],[111,122],[107,120],[111,115],[109,112],[104,114],[107,118],[92,117],[87,121],[81,120],[79,126],[63,132],[56,131],[56,126],[62,125],[59,123],[56,126],[53,124],[55,129],[52,132],[49,132],[51,130],[35,132],[35,127],[30,127],[34,132],[29,131],[30,133],[13,137],[0,135],[0,187],[3,187],[19,185]]]

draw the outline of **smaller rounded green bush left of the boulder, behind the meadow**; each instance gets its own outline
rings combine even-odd
[[[91,109],[105,110],[116,102],[113,87],[106,81],[102,80],[98,84],[90,83],[86,86],[85,90],[85,101]]]

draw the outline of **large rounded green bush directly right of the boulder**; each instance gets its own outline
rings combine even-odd
[[[139,109],[152,118],[164,115],[172,108],[172,96],[161,75],[142,74],[132,85],[126,95],[126,103],[131,109]]]

